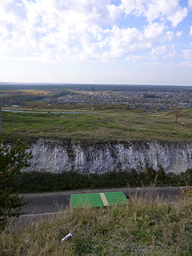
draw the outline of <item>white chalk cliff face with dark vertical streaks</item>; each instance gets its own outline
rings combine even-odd
[[[74,142],[52,138],[31,142],[32,171],[142,171],[145,167],[180,173],[192,168],[192,142]]]

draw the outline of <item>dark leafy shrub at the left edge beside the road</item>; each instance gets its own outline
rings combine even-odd
[[[22,174],[22,168],[28,166],[31,152],[23,141],[14,145],[2,142],[0,145],[0,224],[10,217],[18,217],[22,208],[22,198],[13,194],[17,178]]]

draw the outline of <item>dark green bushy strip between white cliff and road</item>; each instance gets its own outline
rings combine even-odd
[[[185,186],[191,184],[192,169],[188,169],[180,175],[165,174],[163,168],[158,171],[145,168],[144,172],[140,173],[137,171],[111,171],[102,175],[81,175],[77,171],[64,171],[56,174],[32,171],[20,175],[13,189],[18,193],[32,193],[80,188],[122,188],[147,185]]]

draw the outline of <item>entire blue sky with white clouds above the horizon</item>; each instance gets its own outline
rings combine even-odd
[[[0,0],[0,81],[192,85],[192,0]]]

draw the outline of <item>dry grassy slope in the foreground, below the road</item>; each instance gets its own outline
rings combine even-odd
[[[74,209],[0,234],[1,255],[190,255],[192,198],[145,194],[125,206]],[[68,232],[71,240],[61,242]]]

